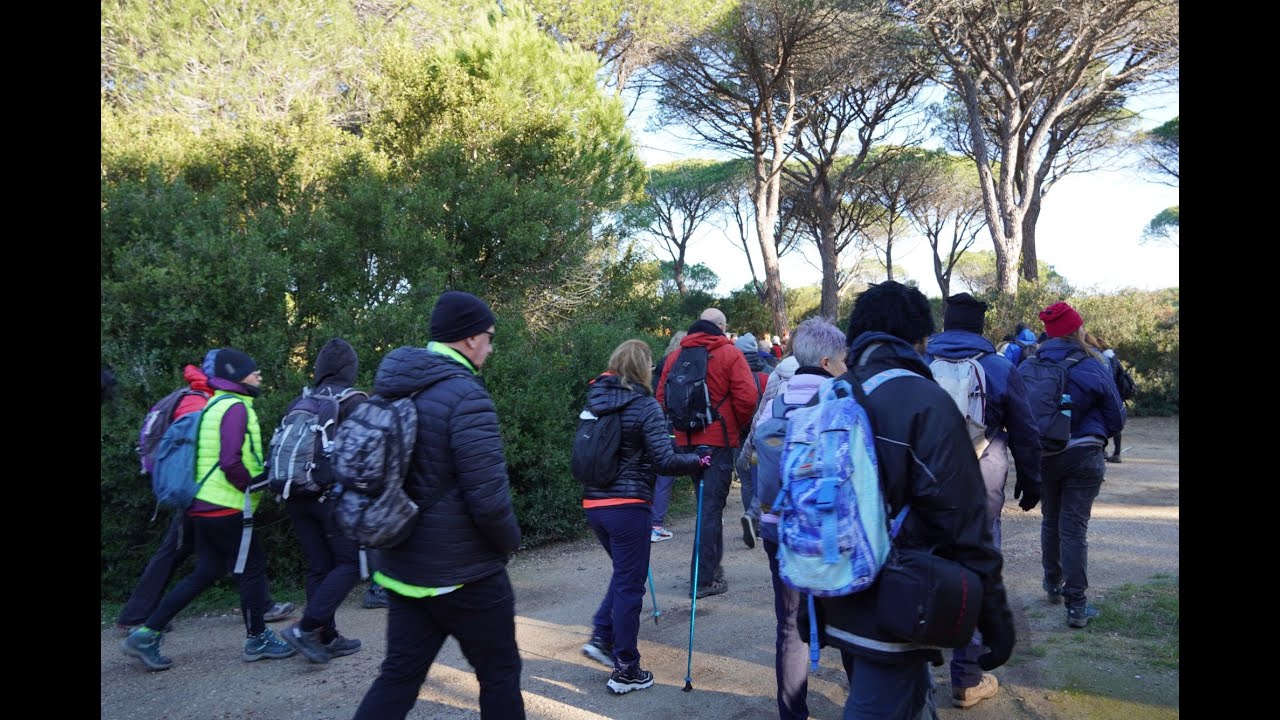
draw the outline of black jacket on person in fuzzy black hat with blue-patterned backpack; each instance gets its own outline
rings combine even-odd
[[[1001,577],[1004,557],[992,541],[982,471],[955,402],[933,382],[920,355],[893,336],[861,333],[850,346],[847,363],[844,379],[850,383],[891,368],[922,375],[891,379],[868,396],[886,498],[893,514],[904,503],[911,505],[895,544],[933,547],[937,555],[977,573],[983,587],[978,629],[1011,625]],[[904,643],[879,629],[877,589],[873,585],[856,594],[823,598],[828,641],[881,661],[924,659],[941,664],[938,648]]]

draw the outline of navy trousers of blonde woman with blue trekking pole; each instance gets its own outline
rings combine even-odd
[[[586,523],[613,560],[609,589],[591,619],[595,637],[613,644],[613,665],[622,670],[640,662],[640,610],[649,573],[649,507],[593,507]]]

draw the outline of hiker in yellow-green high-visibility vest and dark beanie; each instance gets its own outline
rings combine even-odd
[[[187,509],[195,527],[196,569],[183,578],[147,618],[124,638],[123,650],[150,670],[168,670],[173,661],[160,653],[161,630],[200,593],[228,571],[239,571],[241,612],[244,615],[242,655],[246,662],[264,657],[289,657],[294,650],[268,629],[262,618],[269,598],[266,553],[260,539],[248,532],[246,515],[252,518],[266,487],[262,460],[262,430],[253,411],[262,373],[244,352],[224,347],[214,357],[209,398],[197,430],[196,477],[206,478]],[[251,491],[246,493],[246,491]],[[247,512],[246,512],[247,511]]]

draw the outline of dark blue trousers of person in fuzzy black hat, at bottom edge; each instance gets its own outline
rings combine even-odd
[[[891,665],[855,656],[845,720],[937,720],[925,660]]]

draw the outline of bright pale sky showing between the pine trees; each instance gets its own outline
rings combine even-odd
[[[1130,102],[1130,108],[1142,114],[1143,128],[1152,128],[1178,115],[1178,92]],[[713,149],[698,147],[687,129],[646,129],[648,109],[649,104],[643,101],[628,119],[645,163],[653,165],[723,156]],[[1068,176],[1044,196],[1037,224],[1037,254],[1079,290],[1110,292],[1126,287],[1178,287],[1178,249],[1167,243],[1139,243],[1151,218],[1178,204],[1176,187],[1152,182],[1135,169]],[[731,232],[736,233],[736,228]],[[708,224],[689,249],[690,263],[704,263],[719,275],[721,293],[742,287],[751,277],[741,246],[733,237]],[[763,279],[754,233],[751,247],[756,273]],[[974,249],[991,250],[989,233],[979,233]],[[924,240],[913,237],[895,242],[893,256],[897,279],[905,270],[909,278],[919,282],[925,295],[941,295],[933,278],[932,252]],[[787,286],[817,284],[822,278],[812,245],[785,255],[780,266],[782,282]]]

